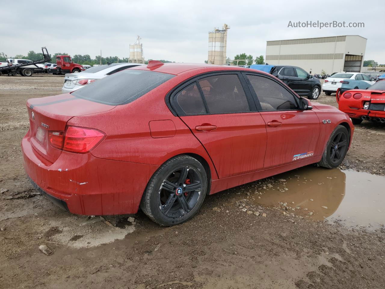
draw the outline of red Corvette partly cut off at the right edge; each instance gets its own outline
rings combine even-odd
[[[336,99],[338,108],[352,118],[353,124],[360,124],[364,119],[385,123],[385,80],[365,90],[337,91]]]

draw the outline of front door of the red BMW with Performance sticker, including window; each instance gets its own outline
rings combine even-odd
[[[320,137],[316,113],[300,110],[298,96],[271,77],[246,74],[245,78],[266,123],[264,168],[315,156]]]

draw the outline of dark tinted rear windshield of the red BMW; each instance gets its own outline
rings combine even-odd
[[[174,75],[167,73],[126,69],[92,82],[71,94],[104,104],[127,104],[172,77]]]

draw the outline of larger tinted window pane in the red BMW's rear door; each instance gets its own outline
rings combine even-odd
[[[222,74],[199,79],[208,113],[242,113],[250,111],[246,94],[236,74]]]

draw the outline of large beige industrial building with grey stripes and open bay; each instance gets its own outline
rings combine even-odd
[[[359,35],[267,41],[266,63],[298,66],[312,74],[361,72],[366,42]]]

